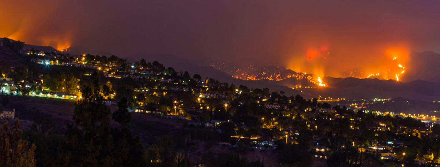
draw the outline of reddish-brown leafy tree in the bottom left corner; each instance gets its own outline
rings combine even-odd
[[[11,129],[6,121],[0,131],[0,167],[35,167],[34,151],[36,146],[29,147],[26,140],[22,140],[23,131],[20,122],[15,121]]]

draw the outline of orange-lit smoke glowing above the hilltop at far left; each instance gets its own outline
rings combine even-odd
[[[52,46],[57,50],[69,48],[77,24],[57,23],[57,13],[66,13],[63,11],[64,5],[67,4],[49,0],[7,1],[5,5],[0,5],[0,37],[30,45]],[[18,8],[19,12],[16,11]]]

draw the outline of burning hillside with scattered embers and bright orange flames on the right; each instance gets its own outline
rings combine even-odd
[[[295,58],[295,65],[291,68],[301,72],[295,72],[279,66],[240,66],[228,63],[212,63],[210,66],[242,80],[282,81],[287,78],[294,78],[296,80],[305,80],[318,86],[328,85],[323,81],[323,77],[328,76],[326,75],[328,74],[326,73],[327,71],[344,68],[335,67],[332,64],[329,65],[329,63],[335,60],[332,58],[328,45],[323,45],[317,49],[308,49],[305,55],[301,58]],[[330,76],[400,81],[407,72],[407,64],[410,59],[409,51],[402,48],[389,48],[385,50],[383,55],[381,59],[371,59],[370,62],[366,62],[354,70],[339,72],[339,75],[332,75],[332,72],[330,72]]]

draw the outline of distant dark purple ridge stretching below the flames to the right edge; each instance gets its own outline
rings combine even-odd
[[[376,78],[333,78],[325,77],[328,84],[325,88],[317,87],[314,83],[296,78],[286,78],[280,81],[268,79],[241,80],[234,78],[221,69],[206,66],[206,63],[167,55],[147,55],[139,57],[147,61],[158,60],[176,71],[188,71],[191,74],[200,74],[202,77],[215,78],[220,82],[246,85],[250,88],[268,87],[272,91],[283,91],[286,95],[301,94],[312,98],[316,96],[345,97],[350,99],[396,98],[418,99],[424,101],[440,100],[440,83],[415,80],[412,82],[396,82],[395,80],[379,80]],[[292,89],[295,85],[313,86],[315,88]]]

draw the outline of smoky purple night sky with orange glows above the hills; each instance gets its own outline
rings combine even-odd
[[[0,0],[0,37],[337,75],[381,67],[389,54],[410,66],[411,51],[440,52],[439,8],[439,0]]]

